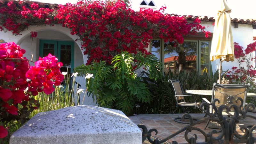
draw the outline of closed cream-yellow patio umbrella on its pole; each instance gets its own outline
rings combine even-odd
[[[215,26],[212,36],[212,47],[210,61],[220,59],[219,66],[219,83],[221,83],[221,73],[223,61],[234,61],[234,42],[231,32],[231,18],[229,13],[231,9],[228,7],[227,0],[221,1],[221,10],[215,19]]]

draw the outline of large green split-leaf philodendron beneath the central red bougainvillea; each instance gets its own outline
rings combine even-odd
[[[122,110],[131,115],[136,103],[148,103],[152,96],[146,83],[137,76],[136,71],[149,71],[148,79],[162,77],[162,65],[154,55],[122,52],[112,59],[112,65],[105,62],[81,65],[75,68],[79,75],[93,74],[94,79],[87,79],[89,95],[96,97],[99,106]],[[90,81],[88,81],[90,80]]]

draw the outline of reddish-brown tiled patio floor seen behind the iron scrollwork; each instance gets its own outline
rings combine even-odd
[[[256,116],[256,113],[248,113],[249,115]],[[204,114],[198,113],[198,114],[190,114],[193,118],[200,119],[204,117]],[[166,138],[167,136],[171,135],[172,133],[175,133],[179,131],[180,129],[184,128],[186,124],[177,123],[174,121],[174,118],[181,117],[182,114],[139,114],[136,116],[129,117],[136,125],[137,124],[144,124],[147,126],[148,130],[155,128],[157,129],[157,137],[159,138]],[[206,122],[202,122],[198,125],[195,125],[195,127],[198,127],[202,130],[204,130],[204,127],[206,125]],[[242,125],[256,125],[256,120],[246,117],[245,119],[240,120],[239,126]],[[207,128],[204,130],[206,133],[212,131],[213,129]],[[215,129],[218,130],[218,129]],[[237,131],[239,131],[237,129]],[[198,131],[192,131],[189,133],[189,136],[193,136],[193,134],[197,134],[198,140],[197,142],[204,142],[204,135],[202,133],[199,133]],[[155,132],[152,132],[154,135]],[[187,143],[187,141],[184,138],[185,132],[182,132],[178,134],[177,136],[171,138],[169,140],[177,141],[178,143]],[[254,133],[254,137],[256,136],[256,133]]]

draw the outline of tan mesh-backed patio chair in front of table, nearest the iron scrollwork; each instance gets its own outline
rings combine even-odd
[[[241,110],[245,108],[245,100],[246,95],[248,91],[248,87],[250,84],[247,85],[229,85],[229,84],[213,84],[212,88],[212,102],[214,102],[214,99],[219,99],[219,103],[215,102],[216,108],[212,107],[212,103],[209,102],[206,98],[203,98],[203,100],[210,105],[210,113],[214,113],[215,110],[219,109],[221,105],[231,106],[233,104],[237,105],[238,107],[241,106]],[[240,97],[243,100],[243,103],[241,103],[240,100],[237,100],[237,98]],[[239,99],[239,98],[238,98]],[[206,113],[205,116],[208,114]],[[231,117],[234,115],[234,109],[230,109],[228,111],[222,111],[223,116]],[[210,120],[207,121],[207,124],[204,129],[207,128],[209,125]],[[238,126],[238,125],[237,125]],[[209,126],[210,127],[210,126]],[[218,124],[213,124],[211,128],[220,128]],[[238,126],[239,128],[239,126]]]

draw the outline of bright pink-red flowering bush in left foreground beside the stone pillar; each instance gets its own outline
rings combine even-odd
[[[24,123],[30,112],[40,106],[33,96],[38,92],[52,93],[53,85],[60,85],[64,79],[62,63],[56,57],[39,57],[35,66],[29,66],[24,53],[14,42],[0,44],[0,141],[8,134],[7,123]]]

